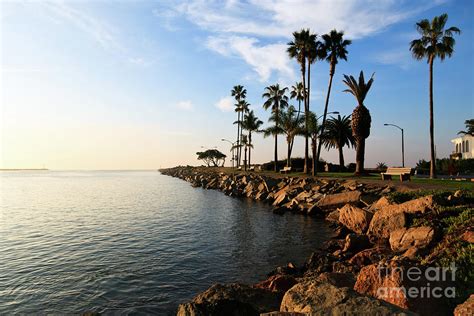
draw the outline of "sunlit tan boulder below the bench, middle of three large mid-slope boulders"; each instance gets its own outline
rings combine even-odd
[[[391,232],[404,228],[406,222],[404,212],[395,211],[389,206],[375,212],[370,221],[367,235],[378,239],[388,239]]]

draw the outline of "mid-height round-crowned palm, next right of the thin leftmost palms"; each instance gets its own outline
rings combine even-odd
[[[288,88],[280,88],[279,84],[268,86],[265,88],[265,92],[262,94],[262,98],[267,99],[263,104],[263,108],[268,110],[271,108],[272,114],[276,118],[280,116],[280,110],[288,106],[288,97],[286,96],[286,91]],[[278,119],[275,120],[275,130],[272,135],[275,136],[275,161],[274,161],[274,170],[277,172],[277,162],[278,162]]]

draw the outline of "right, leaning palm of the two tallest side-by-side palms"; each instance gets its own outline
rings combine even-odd
[[[324,106],[323,123],[321,125],[321,133],[323,134],[328,113],[329,96],[331,95],[332,79],[336,73],[336,65],[339,59],[347,60],[346,47],[349,46],[352,41],[344,39],[344,32],[338,32],[336,30],[332,30],[329,34],[324,34],[322,39],[323,53],[321,53],[321,56],[325,56],[324,58],[326,58],[326,61],[329,63],[329,84],[326,94],[326,104]],[[316,161],[319,161],[319,156],[321,155],[321,144],[322,143],[319,142]]]

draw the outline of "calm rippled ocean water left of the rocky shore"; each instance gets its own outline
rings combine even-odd
[[[328,227],[158,172],[0,173],[0,314],[174,314],[302,263]]]

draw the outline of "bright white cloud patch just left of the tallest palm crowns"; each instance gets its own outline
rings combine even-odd
[[[224,55],[243,59],[258,74],[261,81],[268,81],[272,72],[294,81],[295,74],[286,54],[286,44],[259,45],[256,38],[245,36],[208,38],[209,49]]]

